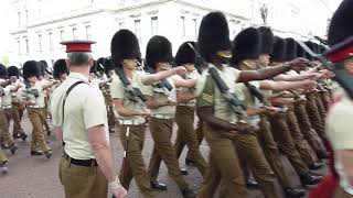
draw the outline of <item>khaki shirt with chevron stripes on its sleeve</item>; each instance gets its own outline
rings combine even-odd
[[[215,67],[208,64],[208,67]],[[216,67],[215,67],[216,68]],[[221,78],[229,87],[229,92],[236,92],[236,81],[239,77],[240,70],[228,67],[224,65],[223,69],[218,72]],[[237,90],[239,91],[239,90]],[[196,82],[196,95],[197,95],[197,106],[199,107],[214,107],[214,117],[227,120],[229,122],[236,122],[237,116],[232,111],[227,100],[222,96],[222,92],[216,87],[215,81],[208,74],[208,69],[205,69]]]

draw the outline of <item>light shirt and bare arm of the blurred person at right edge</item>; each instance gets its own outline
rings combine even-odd
[[[327,117],[327,134],[334,150],[353,150],[353,101],[342,90],[339,95],[340,99],[330,108]],[[335,169],[340,175],[341,187],[353,195],[353,186],[350,185],[339,153],[335,153]]]

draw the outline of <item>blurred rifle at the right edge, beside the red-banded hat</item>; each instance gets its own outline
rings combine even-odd
[[[322,54],[315,54],[304,43],[297,41],[297,43],[313,58],[317,58],[329,70],[331,70],[335,77],[334,79],[341,85],[341,87],[347,92],[351,99],[353,99],[353,78],[344,70],[334,68],[331,62],[328,62]]]

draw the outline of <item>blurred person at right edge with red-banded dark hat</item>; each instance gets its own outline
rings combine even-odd
[[[335,79],[342,87],[333,90],[333,102],[325,121],[328,138],[332,144],[332,169],[310,198],[352,198],[352,79],[353,79],[353,1],[344,0],[333,14],[328,32],[331,50],[324,53],[332,68],[336,70]],[[335,72],[334,72],[335,73]],[[343,78],[344,77],[344,78]],[[351,81],[351,82],[347,82]],[[342,82],[345,82],[342,84]],[[343,89],[344,88],[344,89]],[[347,89],[350,88],[350,89]],[[349,91],[351,90],[351,91]]]

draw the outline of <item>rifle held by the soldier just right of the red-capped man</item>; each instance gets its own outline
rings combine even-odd
[[[128,95],[128,99],[133,101],[133,102],[137,102],[141,108],[142,110],[146,110],[147,107],[146,107],[146,97],[143,96],[143,94],[141,92],[141,90],[137,87],[132,87],[130,81],[128,80],[128,78],[125,76],[125,73],[122,70],[121,67],[117,67],[116,68],[116,73],[118,75],[118,77],[120,78],[122,85],[124,85],[124,88],[125,88],[125,91],[127,92]]]

